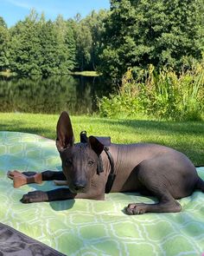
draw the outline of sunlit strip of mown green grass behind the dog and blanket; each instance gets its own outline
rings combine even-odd
[[[58,115],[0,113],[0,130],[26,132],[55,139]],[[80,131],[111,136],[115,143],[154,142],[187,154],[195,165],[204,166],[204,121],[154,121],[71,116],[75,141]]]

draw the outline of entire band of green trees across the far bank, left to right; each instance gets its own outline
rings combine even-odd
[[[97,70],[120,81],[153,64],[190,69],[204,51],[203,0],[111,0],[110,10],[46,20],[31,10],[8,28],[0,18],[0,70],[61,75]]]

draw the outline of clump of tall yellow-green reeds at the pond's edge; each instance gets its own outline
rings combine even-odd
[[[176,74],[150,65],[137,72],[128,69],[118,94],[99,100],[100,115],[134,117],[154,115],[173,120],[201,120],[204,115],[204,62]]]

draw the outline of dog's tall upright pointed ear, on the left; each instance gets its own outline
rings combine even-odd
[[[56,147],[58,151],[73,146],[73,127],[66,111],[61,113],[57,122]]]

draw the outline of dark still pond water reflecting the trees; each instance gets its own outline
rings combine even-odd
[[[98,109],[97,97],[109,94],[107,88],[99,76],[0,76],[0,112],[92,114]]]

